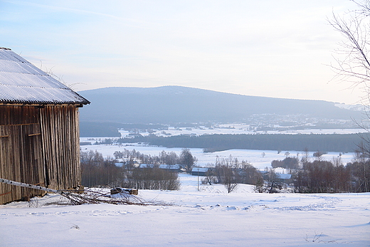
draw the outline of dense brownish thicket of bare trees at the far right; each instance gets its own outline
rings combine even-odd
[[[370,191],[370,159],[364,152],[356,151],[353,161],[347,164],[342,163],[340,155],[328,161],[318,153],[314,160],[310,159],[306,153],[300,160],[298,157],[273,160],[271,166],[288,169],[292,185],[299,193]]]

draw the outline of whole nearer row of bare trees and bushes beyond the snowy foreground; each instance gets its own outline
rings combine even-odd
[[[183,149],[178,156],[173,152],[160,152],[158,156],[141,154],[134,149],[115,152],[115,158],[125,158],[122,167],[115,165],[115,159],[104,159],[99,152],[81,152],[82,184],[84,186],[124,186],[134,189],[179,189],[179,178],[176,172],[159,169],[159,164],[176,164],[177,161],[191,155],[189,149]],[[365,152],[355,152],[352,162],[342,163],[341,156],[330,161],[322,159],[324,152],[317,152],[309,157],[308,152],[302,158],[287,157],[273,160],[271,169],[258,171],[252,164],[239,161],[237,158],[216,157],[216,163],[210,164],[204,184],[223,184],[228,193],[235,191],[238,184],[253,184],[255,191],[279,192],[285,182],[275,173],[275,168],[287,169],[292,174],[288,184],[297,193],[339,193],[339,192],[369,192],[370,191],[370,157]],[[191,155],[192,157],[192,155]],[[149,159],[151,158],[151,159]],[[189,158],[189,157],[188,157]],[[193,161],[196,159],[192,158]],[[153,163],[148,161],[152,160]],[[137,162],[146,161],[151,167],[138,167]],[[140,163],[141,164],[141,163]],[[192,164],[194,165],[194,163]],[[186,166],[184,166],[186,167]],[[192,166],[191,166],[192,167]],[[188,167],[187,172],[191,171]]]

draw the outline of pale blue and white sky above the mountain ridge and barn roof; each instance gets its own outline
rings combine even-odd
[[[332,80],[349,0],[1,1],[0,46],[75,90],[193,88],[357,103]]]

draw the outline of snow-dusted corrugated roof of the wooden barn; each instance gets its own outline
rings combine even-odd
[[[90,104],[9,48],[0,48],[0,103]]]

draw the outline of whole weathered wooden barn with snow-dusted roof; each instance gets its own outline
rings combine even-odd
[[[0,48],[0,178],[80,184],[78,107],[90,102],[9,48]],[[0,204],[43,192],[0,183]]]

